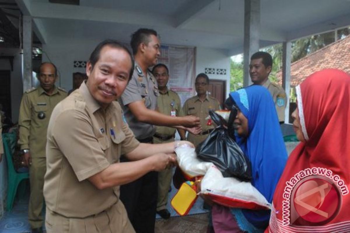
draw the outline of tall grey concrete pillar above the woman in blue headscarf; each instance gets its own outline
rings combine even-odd
[[[249,86],[250,57],[259,51],[260,39],[260,0],[244,1],[244,53],[243,53],[243,86]]]

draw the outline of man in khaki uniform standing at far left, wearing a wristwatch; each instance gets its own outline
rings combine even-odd
[[[30,199],[28,221],[32,232],[42,232],[43,186],[46,172],[46,133],[52,110],[67,93],[56,87],[57,69],[52,63],[42,63],[40,86],[27,90],[22,97],[19,112],[18,144],[29,166]]]

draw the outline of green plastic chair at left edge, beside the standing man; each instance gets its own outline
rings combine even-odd
[[[12,210],[12,207],[13,207],[13,202],[15,200],[18,185],[21,183],[22,180],[29,179],[29,173],[28,172],[18,173],[16,172],[13,166],[11,142],[16,143],[16,133],[3,133],[2,141],[3,141],[3,149],[5,152],[5,158],[7,161],[7,174],[8,174],[6,210],[10,211]]]

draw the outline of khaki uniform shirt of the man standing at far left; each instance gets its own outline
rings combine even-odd
[[[29,149],[32,158],[45,158],[47,126],[52,110],[66,96],[67,92],[58,87],[48,95],[41,86],[23,94],[18,120],[18,144],[21,150]]]

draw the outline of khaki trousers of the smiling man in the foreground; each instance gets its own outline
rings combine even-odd
[[[46,208],[45,227],[47,233],[135,233],[121,201],[86,218],[67,218]]]

